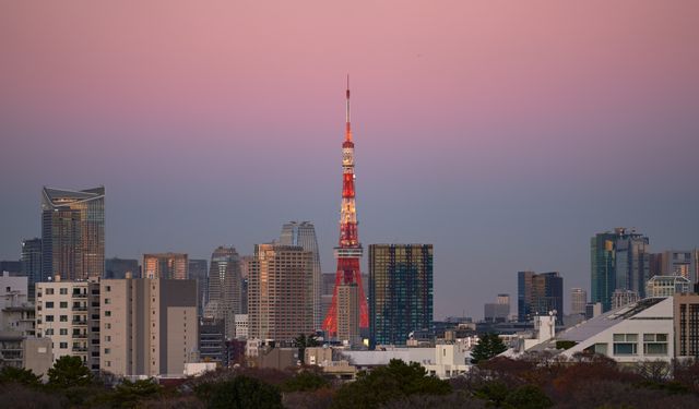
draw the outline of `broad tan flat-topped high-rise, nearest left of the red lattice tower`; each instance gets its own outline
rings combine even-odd
[[[298,245],[256,244],[248,276],[248,336],[291,342],[313,332],[312,254]]]

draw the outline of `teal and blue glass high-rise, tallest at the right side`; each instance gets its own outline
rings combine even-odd
[[[591,239],[592,302],[601,302],[604,311],[612,308],[615,290],[632,291],[643,298],[652,264],[648,237],[633,229],[616,228]],[[653,263],[651,263],[653,262]]]

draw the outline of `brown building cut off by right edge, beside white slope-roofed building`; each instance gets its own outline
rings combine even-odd
[[[699,358],[699,294],[675,294],[673,310],[676,356]]]

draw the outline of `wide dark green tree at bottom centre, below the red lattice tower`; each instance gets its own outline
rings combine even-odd
[[[451,385],[428,376],[417,362],[410,365],[393,359],[370,373],[360,372],[353,383],[343,385],[333,399],[334,408],[379,408],[411,395],[448,395]]]

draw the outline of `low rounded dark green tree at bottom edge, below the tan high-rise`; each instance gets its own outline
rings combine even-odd
[[[210,409],[282,409],[282,394],[273,385],[239,375],[229,381],[202,384],[197,395]]]

